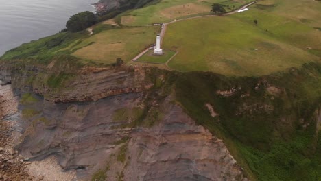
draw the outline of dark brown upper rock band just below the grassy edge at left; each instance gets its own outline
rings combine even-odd
[[[53,61],[47,67],[2,66],[3,81],[22,92],[43,95],[47,101],[97,101],[122,93],[139,93],[152,86],[140,69],[73,67]],[[12,80],[12,81],[11,81]]]

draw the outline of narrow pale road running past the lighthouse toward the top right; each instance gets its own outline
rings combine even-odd
[[[208,16],[226,16],[226,15],[230,15],[230,14],[235,14],[237,13],[238,10],[241,10],[243,8],[248,8],[248,6],[257,3],[258,0],[256,1],[252,1],[250,3],[247,3],[246,5],[242,5],[240,8],[237,8],[236,10],[233,10],[231,12],[226,12],[224,14],[209,14],[209,15],[202,15],[202,16],[193,16],[193,17],[189,17],[189,18],[185,18],[185,19],[178,19],[178,20],[174,20],[168,23],[163,23],[162,25],[162,29],[160,30],[160,45],[163,45],[163,38],[165,36],[165,32],[167,29],[167,25],[171,24],[171,23],[176,23],[178,21],[185,21],[187,19],[198,19],[198,18],[202,18],[202,17],[208,17]],[[147,26],[152,26],[152,25],[147,25]],[[148,51],[148,49],[145,49],[143,52],[139,53],[139,55],[137,55],[135,58],[132,59],[132,62],[136,61],[137,59],[139,59],[141,56],[143,56],[144,53],[146,53]]]

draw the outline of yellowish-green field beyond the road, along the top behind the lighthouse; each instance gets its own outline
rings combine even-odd
[[[123,25],[149,25],[152,23],[165,23],[193,14],[209,14],[213,3],[226,5],[226,10],[232,10],[250,2],[250,0],[163,0],[155,5],[149,5],[121,14]]]

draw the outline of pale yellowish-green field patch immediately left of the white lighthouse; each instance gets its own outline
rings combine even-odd
[[[159,27],[109,29],[82,40],[72,55],[99,63],[114,63],[116,58],[128,62],[154,43],[158,31]]]

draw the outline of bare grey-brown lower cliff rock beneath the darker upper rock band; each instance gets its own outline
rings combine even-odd
[[[107,180],[247,180],[222,140],[195,125],[169,98],[158,106],[158,121],[133,127],[144,110],[143,97],[43,101],[43,113],[29,119],[17,149],[30,160],[56,155],[64,169],[86,169],[89,175],[108,167]]]

